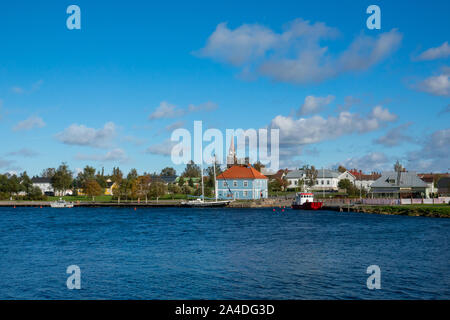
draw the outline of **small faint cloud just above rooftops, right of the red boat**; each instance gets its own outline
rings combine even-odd
[[[358,169],[365,172],[385,171],[391,167],[390,159],[382,152],[371,152],[361,157],[347,158],[335,166],[344,166],[347,169]]]

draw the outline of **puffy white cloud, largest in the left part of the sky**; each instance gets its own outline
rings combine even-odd
[[[116,125],[113,122],[107,122],[101,129],[72,124],[63,132],[56,134],[56,139],[69,145],[107,148],[115,135]]]

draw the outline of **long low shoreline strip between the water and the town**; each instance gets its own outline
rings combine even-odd
[[[50,207],[52,201],[0,201],[1,207]],[[75,202],[74,207],[85,208],[181,208],[180,200],[151,200],[143,202]],[[289,209],[289,200],[236,201],[223,208],[280,208]],[[450,218],[450,205],[324,205],[321,210],[358,212],[367,214],[402,215],[414,217]]]

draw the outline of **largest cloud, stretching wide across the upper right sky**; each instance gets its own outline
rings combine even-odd
[[[242,67],[246,78],[260,75],[292,83],[321,82],[350,71],[364,71],[392,54],[402,35],[393,29],[377,37],[360,35],[340,54],[333,55],[322,40],[336,38],[338,30],[324,23],[296,19],[276,33],[259,24],[234,30],[217,26],[198,55]]]

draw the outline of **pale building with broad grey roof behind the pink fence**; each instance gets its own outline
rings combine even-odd
[[[370,192],[380,197],[429,198],[428,185],[415,172],[383,172]]]

